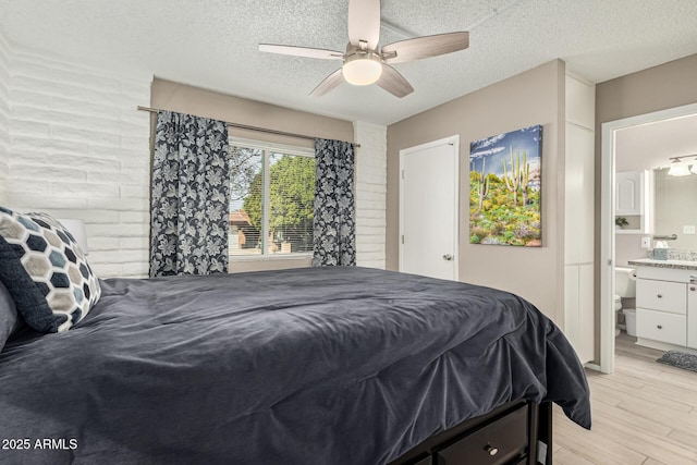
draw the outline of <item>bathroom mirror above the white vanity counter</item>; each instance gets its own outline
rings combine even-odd
[[[675,241],[667,241],[669,247],[697,250],[697,174],[669,176],[668,168],[656,169],[653,174],[653,235],[676,234]]]

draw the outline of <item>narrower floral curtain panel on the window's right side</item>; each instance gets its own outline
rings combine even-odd
[[[356,265],[354,154],[351,143],[315,139],[313,266]]]

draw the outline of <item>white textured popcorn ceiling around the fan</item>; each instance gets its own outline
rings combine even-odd
[[[697,53],[697,0],[382,0],[380,45],[470,32],[470,47],[395,68],[415,91],[313,88],[341,63],[259,42],[343,50],[347,0],[0,0],[13,45],[225,94],[390,124],[553,59],[595,83]],[[144,102],[147,105],[147,102]]]

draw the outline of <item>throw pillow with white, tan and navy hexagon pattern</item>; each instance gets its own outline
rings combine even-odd
[[[101,295],[70,231],[46,213],[0,207],[0,280],[36,331],[66,331]]]

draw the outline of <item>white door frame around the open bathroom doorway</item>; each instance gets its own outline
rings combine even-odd
[[[600,371],[614,370],[614,173],[615,132],[697,113],[697,103],[602,123],[600,192]]]

